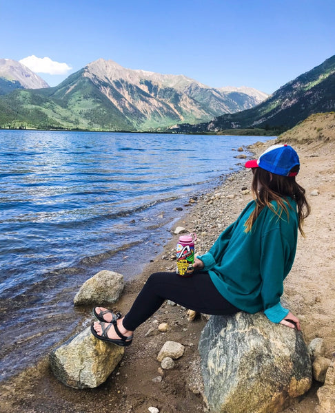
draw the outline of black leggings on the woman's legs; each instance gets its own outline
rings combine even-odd
[[[165,299],[204,314],[225,315],[240,311],[216,290],[208,273],[194,271],[192,277],[181,277],[176,273],[154,273],[125,315],[123,326],[134,331],[159,309]]]

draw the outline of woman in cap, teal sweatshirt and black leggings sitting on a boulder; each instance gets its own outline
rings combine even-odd
[[[281,306],[283,281],[292,268],[298,229],[309,215],[305,189],[296,182],[299,158],[287,145],[273,145],[245,167],[254,174],[249,202],[210,251],[196,257],[192,277],[154,273],[125,317],[105,308],[92,334],[128,346],[134,330],[170,299],[199,313],[228,315],[263,310],[270,321],[300,330],[299,320]]]

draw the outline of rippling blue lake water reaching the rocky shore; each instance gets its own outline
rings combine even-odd
[[[0,130],[0,379],[77,328],[88,277],[138,275],[187,200],[241,168],[232,149],[267,139]]]

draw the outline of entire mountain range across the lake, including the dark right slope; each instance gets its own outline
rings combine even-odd
[[[0,59],[0,127],[279,134],[310,114],[335,110],[335,56],[271,96],[103,59],[48,87],[19,65]]]

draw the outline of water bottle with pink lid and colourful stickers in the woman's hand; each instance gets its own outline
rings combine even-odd
[[[194,241],[196,234],[181,235],[176,247],[176,273],[181,277],[191,277],[194,263]]]

